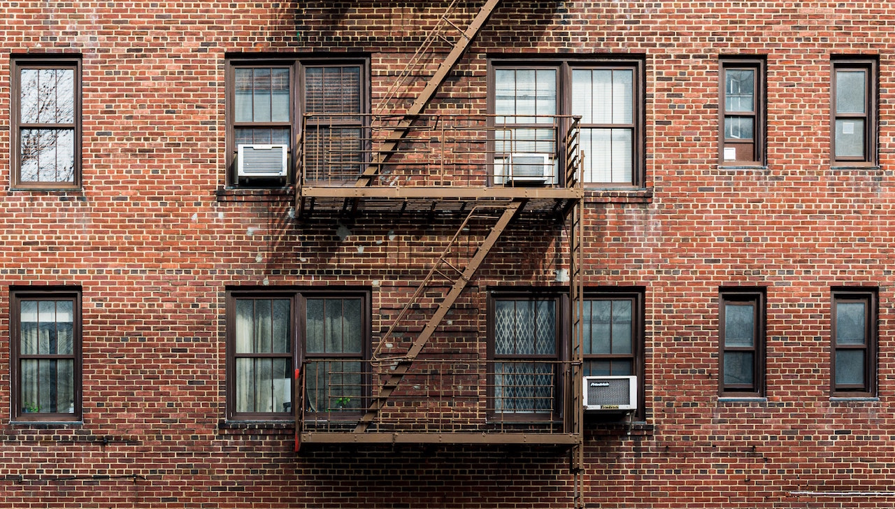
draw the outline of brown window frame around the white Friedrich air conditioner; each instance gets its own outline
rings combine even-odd
[[[594,301],[628,301],[631,304],[631,352],[630,353],[588,353],[592,351],[593,329],[591,323],[591,308]],[[616,372],[610,367],[609,373],[599,373],[598,376],[634,375],[637,377],[637,411],[635,417],[644,419],[645,416],[645,391],[644,391],[644,291],[642,289],[626,288],[601,288],[587,290],[584,293],[584,337],[582,338],[582,352],[584,358],[584,376],[592,375],[588,365],[589,361],[631,361],[629,373]],[[610,332],[611,334],[611,332]],[[590,349],[588,344],[590,342]]]

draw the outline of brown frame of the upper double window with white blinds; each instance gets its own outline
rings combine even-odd
[[[631,70],[633,72],[632,83],[632,124],[625,124],[626,128],[630,128],[631,133],[631,182],[589,182],[584,180],[584,187],[588,189],[618,189],[631,188],[641,189],[646,185],[645,174],[645,131],[646,131],[646,115],[645,115],[645,72],[644,59],[636,56],[625,56],[618,58],[587,58],[587,59],[567,59],[560,55],[550,58],[490,58],[488,61],[488,83],[487,83],[487,108],[490,115],[489,127],[496,127],[495,118],[495,99],[497,95],[496,70],[497,69],[555,69],[557,71],[557,98],[556,98],[556,115],[565,115],[568,118],[558,124],[556,147],[560,153],[561,147],[560,132],[568,129],[571,122],[571,112],[573,103],[574,83],[572,72],[578,69],[586,70]],[[527,128],[538,126],[537,124],[507,124],[513,127]],[[541,124],[540,127],[549,124]],[[580,124],[582,129],[585,128],[604,128],[610,125],[618,124]],[[491,168],[494,167],[494,136],[491,135],[489,140],[489,161]],[[585,157],[586,160],[586,157]],[[562,175],[565,168],[561,164],[558,165],[558,174]],[[489,185],[495,184],[494,175],[489,173]],[[562,182],[559,182],[560,184]]]

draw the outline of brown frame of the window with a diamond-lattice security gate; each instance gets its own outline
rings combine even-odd
[[[507,355],[499,355],[495,352],[495,335],[496,335],[496,320],[495,320],[495,311],[498,301],[551,301],[554,306],[554,310],[556,313],[556,332],[555,332],[555,346],[556,353],[554,355],[538,355],[538,354],[507,354]],[[560,293],[551,290],[531,290],[531,291],[518,291],[518,290],[496,290],[488,293],[488,302],[487,302],[487,310],[488,310],[488,320],[487,320],[487,358],[488,358],[488,369],[487,371],[487,412],[489,420],[499,421],[499,422],[559,422],[562,420],[565,405],[567,400],[567,391],[571,390],[571,387],[568,387],[568,380],[565,378],[563,369],[561,368],[562,362],[568,361],[568,350],[569,350],[569,315],[568,315],[568,304],[567,304],[567,294]],[[536,363],[538,361],[550,361],[553,363],[554,373],[553,373],[553,386],[552,393],[554,395],[553,408],[549,412],[514,412],[514,411],[497,411],[497,395],[495,394],[496,388],[496,373],[495,366],[497,362],[502,359],[507,360],[530,360],[532,363]]]

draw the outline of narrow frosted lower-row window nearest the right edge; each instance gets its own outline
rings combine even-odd
[[[876,388],[876,292],[836,290],[831,304],[835,396],[872,396]]]

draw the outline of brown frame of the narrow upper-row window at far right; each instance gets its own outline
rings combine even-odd
[[[879,154],[879,81],[878,62],[873,58],[833,57],[830,65],[830,159],[833,166],[875,166]],[[861,71],[866,73],[865,80],[865,113],[863,115],[849,113],[839,114],[836,111],[837,72],[841,70]],[[864,157],[838,157],[836,155],[836,123],[840,119],[862,119],[864,126]]]

